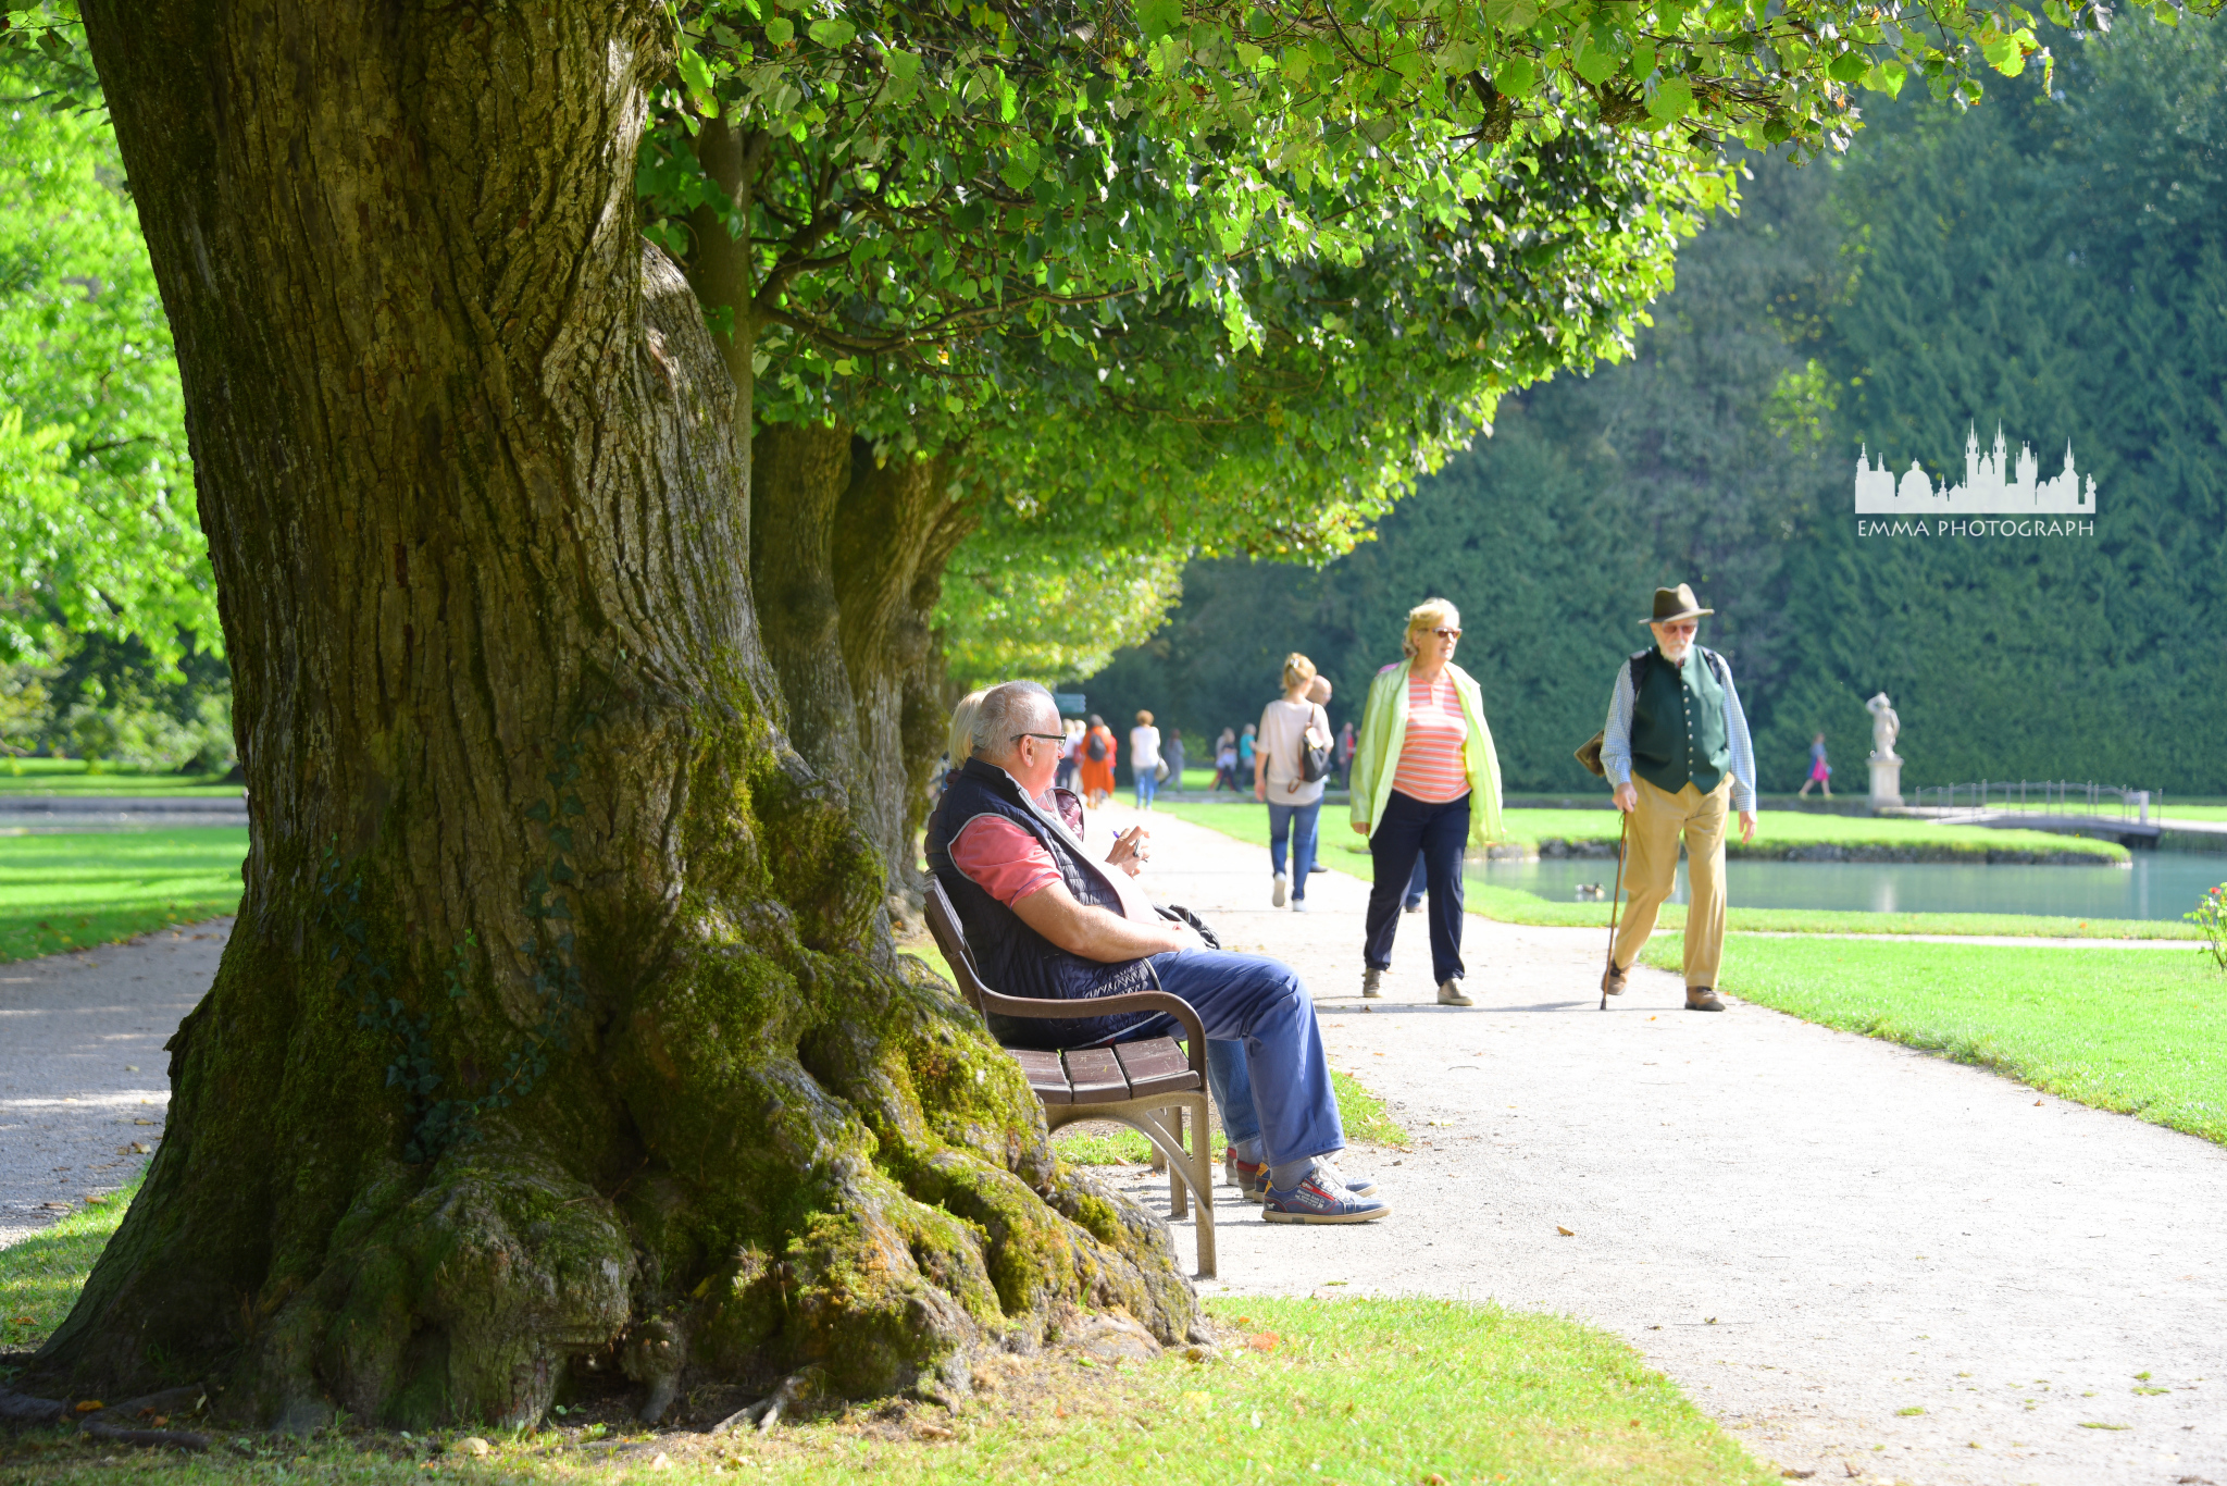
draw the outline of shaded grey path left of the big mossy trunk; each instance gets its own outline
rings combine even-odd
[[[0,965],[0,1248],[147,1165],[169,1107],[163,1043],[229,931],[218,918]]]

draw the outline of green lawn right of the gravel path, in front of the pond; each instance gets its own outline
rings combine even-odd
[[[1657,940],[1641,958],[1677,956]],[[2227,1143],[2227,974],[2196,951],[1735,936],[1717,985]]]

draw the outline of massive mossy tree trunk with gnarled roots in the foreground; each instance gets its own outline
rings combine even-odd
[[[254,831],[163,1150],[33,1377],[528,1424],[592,1359],[864,1395],[1078,1303],[1185,1332],[1165,1230],[864,949],[884,862],[784,742],[737,388],[632,227],[664,7],[85,18]]]

